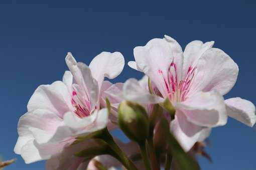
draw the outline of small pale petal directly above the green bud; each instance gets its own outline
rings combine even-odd
[[[163,102],[164,98],[151,94],[145,87],[142,87],[135,78],[127,79],[123,85],[124,99],[139,102],[141,104],[152,104]]]

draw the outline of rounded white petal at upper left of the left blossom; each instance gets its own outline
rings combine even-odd
[[[71,96],[67,86],[62,81],[50,85],[40,85],[28,102],[28,112],[35,109],[45,109],[63,117],[64,113],[72,110]]]

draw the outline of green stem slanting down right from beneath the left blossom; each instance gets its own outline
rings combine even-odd
[[[118,160],[128,169],[128,170],[138,170],[134,163],[128,158],[128,156],[120,149],[120,147],[115,143],[113,137],[105,128],[103,133],[98,136],[99,138],[106,141],[113,152],[118,156]]]

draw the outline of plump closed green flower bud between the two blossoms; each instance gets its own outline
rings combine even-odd
[[[118,108],[118,124],[127,137],[138,143],[149,134],[149,117],[145,108],[131,101],[122,101]]]

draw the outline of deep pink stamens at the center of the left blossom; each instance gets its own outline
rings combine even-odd
[[[71,103],[74,108],[74,113],[79,117],[85,117],[90,115],[91,105],[90,101],[87,100],[84,96],[79,95],[75,90],[72,92]]]

